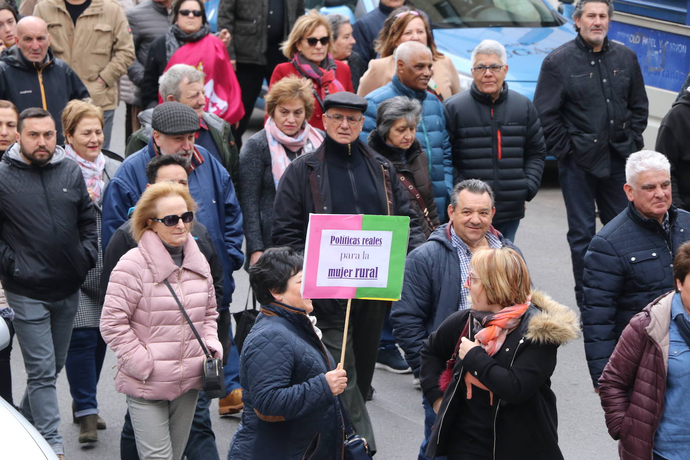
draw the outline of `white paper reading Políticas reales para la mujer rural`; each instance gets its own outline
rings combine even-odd
[[[323,230],[317,286],[385,288],[393,232]]]

